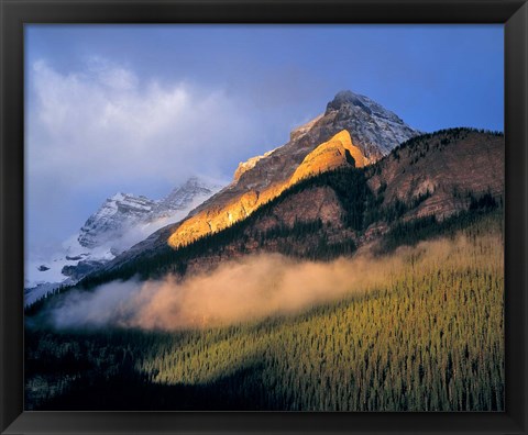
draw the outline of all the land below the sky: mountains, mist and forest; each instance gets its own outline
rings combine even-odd
[[[107,200],[25,309],[26,408],[504,411],[504,156],[342,91],[221,190]]]

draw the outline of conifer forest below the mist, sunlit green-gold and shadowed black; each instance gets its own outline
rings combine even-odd
[[[28,315],[25,406],[503,411],[502,208],[472,203],[394,226],[372,257],[383,280],[297,314],[173,332]]]

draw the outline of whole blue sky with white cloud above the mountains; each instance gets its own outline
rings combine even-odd
[[[26,241],[118,191],[228,182],[340,90],[431,132],[503,130],[502,25],[26,25]]]

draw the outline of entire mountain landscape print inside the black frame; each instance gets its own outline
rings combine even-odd
[[[24,29],[24,410],[505,410],[503,25]]]

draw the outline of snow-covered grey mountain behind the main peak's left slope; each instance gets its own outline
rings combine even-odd
[[[79,230],[48,258],[34,258],[26,267],[26,303],[91,274],[151,233],[184,219],[220,189],[189,178],[162,200],[117,193],[108,198]]]

